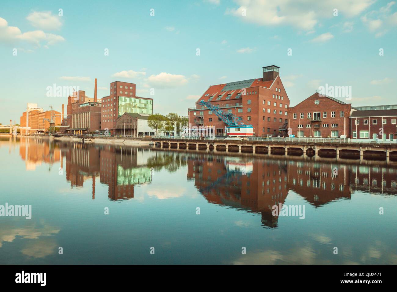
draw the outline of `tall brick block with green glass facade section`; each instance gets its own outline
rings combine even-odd
[[[124,113],[153,114],[153,99],[137,97],[136,84],[114,81],[110,95],[102,97],[101,129],[116,133],[116,121]]]

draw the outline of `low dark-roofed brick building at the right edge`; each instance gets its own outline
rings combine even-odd
[[[397,135],[397,109],[357,110],[351,115],[353,139],[382,139],[395,141]]]

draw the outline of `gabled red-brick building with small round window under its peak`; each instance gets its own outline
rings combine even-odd
[[[288,108],[288,130],[295,137],[350,137],[351,104],[314,93]]]

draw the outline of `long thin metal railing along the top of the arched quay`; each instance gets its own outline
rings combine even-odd
[[[197,136],[152,136],[153,139],[174,139],[174,140],[224,140],[226,137],[197,137]],[[374,141],[370,139],[351,138],[283,138],[283,137],[247,137],[248,141],[260,142],[281,142],[281,143],[362,143],[362,144],[396,144],[393,141]],[[233,140],[230,140],[233,141]],[[234,140],[236,141],[236,140]],[[237,140],[238,141],[238,140]],[[244,140],[243,140],[244,141]],[[245,140],[246,141],[246,140]]]

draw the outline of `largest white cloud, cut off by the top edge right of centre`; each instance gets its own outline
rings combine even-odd
[[[226,14],[241,17],[243,21],[265,26],[291,25],[306,31],[314,29],[322,18],[339,14],[354,17],[374,3],[374,0],[236,0],[238,8],[227,9]],[[244,15],[244,12],[245,15]]]

